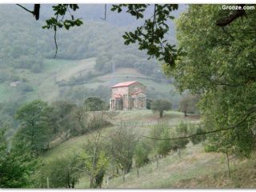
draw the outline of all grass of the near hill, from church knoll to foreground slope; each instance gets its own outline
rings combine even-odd
[[[139,118],[138,118],[139,117]],[[164,118],[159,119],[158,114],[150,110],[121,111],[112,119],[114,126],[103,129],[102,140],[118,129],[118,121],[129,127],[136,135],[148,135],[150,127],[157,122],[169,122],[176,125],[178,122],[198,123],[198,119],[184,118],[183,114],[173,111],[166,112]],[[42,156],[44,161],[56,157],[65,157],[82,149],[89,135],[70,138],[49,150]],[[256,154],[253,154],[255,156]],[[234,188],[255,187],[254,158],[251,160],[230,158],[231,178],[228,177],[226,155],[206,153],[201,144],[193,145],[191,142],[181,152],[171,152],[166,158],[150,162],[137,170],[133,166],[130,173],[126,174],[126,181],[122,176],[117,178],[104,178],[102,188]],[[246,171],[244,168],[246,167]],[[88,178],[81,178],[75,188],[88,188]]]

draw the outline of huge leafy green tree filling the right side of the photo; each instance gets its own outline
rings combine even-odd
[[[178,45],[186,55],[164,70],[174,75],[179,90],[202,95],[206,130],[226,129],[229,144],[249,158],[255,141],[256,17],[254,10],[246,10],[246,19],[232,20],[224,28],[216,25],[229,14],[219,5],[191,5],[177,26]],[[217,148],[226,147],[223,131]]]

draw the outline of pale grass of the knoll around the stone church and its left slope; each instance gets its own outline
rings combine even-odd
[[[117,129],[118,125],[122,121],[128,126],[133,127],[135,133],[138,134],[147,134],[150,130],[150,127],[154,125],[154,123],[158,122],[169,122],[169,123],[177,123],[179,121],[190,121],[188,118],[183,118],[183,114],[176,111],[167,111],[164,114],[164,117],[159,119],[158,114],[153,113],[151,110],[127,110],[127,111],[119,111],[114,118],[110,120],[113,126],[106,127],[102,130],[102,135],[107,136]],[[197,122],[198,120],[193,120],[193,122]],[[142,123],[143,122],[143,123]],[[43,158],[54,158],[54,156],[61,156],[75,150],[78,150],[83,143],[86,142],[87,135],[82,135],[79,137],[70,138],[66,142],[62,142],[62,144],[55,146],[52,150],[49,150],[44,154]]]

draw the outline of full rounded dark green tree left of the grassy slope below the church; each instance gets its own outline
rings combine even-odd
[[[32,153],[39,154],[49,148],[50,114],[52,108],[46,102],[34,100],[18,108],[15,118],[19,121],[15,140],[26,141]]]

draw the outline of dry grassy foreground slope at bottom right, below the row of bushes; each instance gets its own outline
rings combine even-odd
[[[104,188],[254,188],[256,171],[254,157],[250,160],[230,160],[231,178],[228,177],[226,156],[224,154],[205,153],[201,144],[188,144],[178,154],[170,154],[156,163],[150,163],[139,170],[133,169],[122,177],[114,178]],[[86,184],[86,183],[85,183]],[[82,183],[78,184],[82,186]]]

